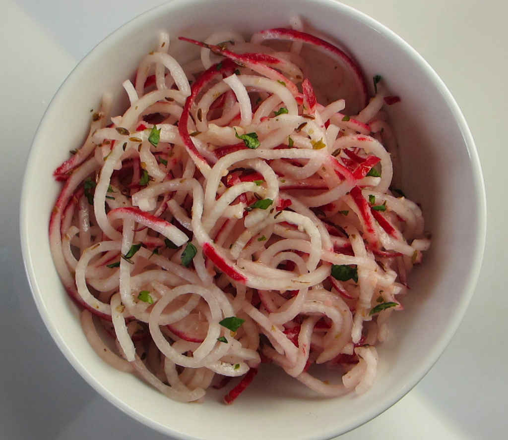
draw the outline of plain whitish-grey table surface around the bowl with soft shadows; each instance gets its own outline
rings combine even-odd
[[[239,0],[240,1],[240,0]],[[2,356],[0,438],[168,438],[94,391],[59,352],[25,279],[19,193],[37,125],[76,63],[125,21],[160,0],[0,0]],[[464,320],[430,373],[404,398],[340,440],[506,438],[508,3],[501,0],[351,0],[419,51],[448,85],[480,153],[488,236]],[[468,194],[461,195],[467,203]],[[46,221],[34,219],[34,221]],[[453,258],[451,250],[450,258]]]

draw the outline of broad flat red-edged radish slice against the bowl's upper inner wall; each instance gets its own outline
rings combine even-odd
[[[344,98],[346,101],[345,113],[357,114],[367,105],[367,83],[358,63],[344,51],[327,41],[314,37],[309,33],[295,29],[275,28],[255,33],[252,43],[262,43],[267,40],[285,40],[302,42],[304,45],[301,55],[312,66],[309,79],[314,90],[326,90],[326,96],[317,96],[322,104],[330,103],[336,99]],[[308,46],[315,50],[309,50]],[[316,53],[320,52],[320,53]],[[324,59],[322,54],[329,55],[331,59]]]

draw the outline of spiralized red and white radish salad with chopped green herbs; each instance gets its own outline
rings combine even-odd
[[[111,116],[105,94],[54,172],[51,251],[90,345],[179,401],[228,386],[231,403],[262,363],[323,396],[365,392],[430,245],[391,186],[400,98],[379,75],[369,96],[298,17],[180,39],[200,58],[179,64],[163,33],[123,82],[129,108]]]

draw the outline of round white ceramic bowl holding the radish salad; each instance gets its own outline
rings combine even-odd
[[[203,38],[218,26],[249,34],[287,25],[290,13],[341,42],[367,78],[381,74],[402,97],[393,106],[392,122],[403,161],[403,188],[422,204],[432,248],[411,276],[406,310],[392,324],[396,337],[379,348],[378,377],[364,395],[310,397],[297,381],[267,367],[231,407],[213,393],[204,404],[174,402],[134,376],[113,370],[88,345],[49,250],[48,219],[59,188],[52,171],[82,141],[89,111],[97,108],[102,92],[121,96],[121,81],[152,50],[158,30],[169,30],[173,39],[183,32]],[[195,53],[178,42],[175,49],[186,57]],[[20,229],[39,312],[60,350],[99,393],[137,420],[178,438],[283,440],[330,438],[353,429],[415,386],[462,319],[480,270],[485,225],[482,173],[466,122],[431,67],[392,31],[332,0],[174,0],[115,31],[60,87],[31,149]]]

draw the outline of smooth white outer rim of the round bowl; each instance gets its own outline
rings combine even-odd
[[[330,6],[335,8],[337,11],[341,12],[344,15],[348,15],[352,17],[352,19],[361,22],[363,25],[370,26],[374,29],[377,29],[386,35],[387,38],[392,40],[403,52],[407,54],[411,59],[416,61],[420,66],[425,75],[429,77],[429,79],[433,82],[435,87],[439,90],[443,99],[449,105],[450,111],[459,127],[462,136],[464,147],[467,149],[470,158],[471,171],[472,171],[472,179],[473,184],[476,189],[474,193],[474,197],[478,202],[478,211],[475,213],[476,215],[476,223],[477,230],[474,231],[475,238],[477,239],[474,244],[474,252],[473,252],[473,260],[472,267],[467,276],[467,282],[465,283],[464,292],[461,294],[460,299],[458,301],[456,312],[452,316],[452,318],[447,322],[445,326],[445,330],[442,333],[442,336],[438,341],[433,344],[432,350],[430,350],[429,354],[426,357],[426,361],[422,362],[422,364],[414,369],[410,374],[410,381],[407,381],[402,387],[400,387],[396,392],[394,391],[392,395],[386,397],[384,400],[380,401],[377,404],[373,404],[369,411],[365,411],[362,416],[358,417],[356,420],[351,421],[348,424],[344,424],[345,429],[342,428],[340,431],[337,429],[329,429],[325,428],[321,430],[319,435],[315,435],[312,438],[323,439],[323,438],[331,438],[330,436],[336,436],[345,432],[348,432],[352,429],[355,429],[364,423],[367,423],[374,417],[378,416],[385,412],[388,408],[390,408],[393,404],[395,404],[398,400],[400,400],[404,395],[406,395],[412,388],[414,388],[420,380],[422,380],[428,371],[432,368],[432,366],[437,362],[441,354],[444,352],[446,347],[451,342],[455,332],[457,331],[460,322],[462,321],[466,309],[469,305],[469,302],[474,294],[475,287],[477,286],[477,282],[480,276],[480,270],[482,267],[483,254],[485,250],[486,243],[486,234],[487,234],[487,208],[486,208],[486,192],[485,192],[485,183],[483,178],[482,167],[480,163],[480,158],[478,154],[477,147],[475,146],[471,131],[467,125],[467,122],[462,114],[458,104],[456,103],[452,93],[447,88],[447,86],[443,83],[437,73],[432,69],[430,64],[405,40],[399,37],[394,31],[389,29],[387,26],[378,22],[374,18],[368,16],[367,14],[358,11],[357,9],[339,3],[335,0],[311,0],[312,3],[320,3],[325,6]],[[74,69],[69,73],[66,77],[65,81],[59,86],[55,94],[53,95],[44,115],[39,123],[37,131],[35,133],[34,139],[30,146],[30,151],[27,159],[27,166],[25,169],[25,173],[23,176],[23,184],[21,190],[21,200],[20,200],[20,220],[19,220],[19,230],[20,230],[20,239],[21,239],[21,251],[23,257],[23,264],[26,273],[26,277],[28,279],[28,283],[30,286],[30,290],[32,292],[32,296],[36,303],[37,309],[43,322],[48,329],[51,337],[54,342],[62,352],[62,354],[67,358],[67,360],[71,363],[74,369],[79,373],[79,375],[90,385],[92,386],[100,395],[105,397],[108,401],[113,403],[115,407],[119,410],[128,414],[135,420],[143,423],[146,426],[151,427],[159,432],[162,432],[166,435],[174,436],[175,438],[181,438],[184,440],[195,440],[197,437],[189,436],[186,433],[178,432],[173,430],[171,427],[167,425],[160,424],[148,416],[138,412],[137,410],[131,408],[128,404],[123,402],[121,399],[116,397],[114,394],[109,392],[104,386],[96,379],[94,376],[90,374],[90,372],[84,367],[83,364],[76,357],[74,352],[66,346],[63,338],[56,330],[56,327],[52,323],[52,320],[49,316],[48,311],[44,307],[44,303],[42,301],[42,289],[39,286],[38,280],[35,278],[34,273],[34,264],[32,259],[32,254],[34,252],[31,249],[31,246],[28,242],[28,197],[30,188],[27,184],[28,176],[34,173],[35,164],[33,160],[30,160],[34,156],[34,151],[37,148],[37,144],[39,143],[39,138],[41,136],[41,132],[45,130],[45,125],[48,120],[48,113],[51,111],[54,101],[57,99],[58,95],[63,93],[66,88],[66,84],[69,82],[69,78],[78,75],[79,71],[83,69],[83,66],[90,61],[90,59],[99,52],[103,47],[109,46],[110,42],[114,41],[121,37],[121,35],[126,32],[129,33],[129,28],[134,22],[138,21],[150,21],[155,18],[157,15],[164,14],[167,9],[172,9],[175,5],[189,3],[187,0],[170,0],[167,3],[162,5],[158,5],[154,8],[151,8],[136,17],[132,18],[128,22],[122,24],[117,29],[113,30],[106,36],[101,42],[99,42],[93,49],[91,49],[74,67]]]

